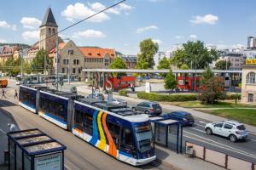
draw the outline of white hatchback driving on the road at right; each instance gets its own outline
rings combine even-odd
[[[239,139],[246,139],[248,132],[246,127],[236,121],[224,121],[224,122],[211,122],[205,126],[206,133],[218,134],[229,138],[231,142],[236,142]]]

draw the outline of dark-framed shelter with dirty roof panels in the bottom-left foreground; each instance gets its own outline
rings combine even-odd
[[[64,170],[66,146],[42,131],[21,130],[7,134],[9,170]]]

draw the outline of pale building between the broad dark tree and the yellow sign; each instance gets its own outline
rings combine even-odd
[[[219,59],[231,62],[230,70],[241,70],[241,65],[244,64],[246,57],[242,52],[234,52],[230,50],[218,51]],[[217,61],[218,62],[218,61]]]

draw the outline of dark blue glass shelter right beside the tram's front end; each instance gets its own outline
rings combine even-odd
[[[181,153],[183,144],[182,123],[161,116],[149,117],[149,119],[153,128],[154,143]]]

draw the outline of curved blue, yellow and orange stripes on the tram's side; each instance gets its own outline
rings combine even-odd
[[[106,119],[108,114],[102,111],[94,111],[93,113],[93,132],[90,135],[84,133],[79,128],[73,128],[73,133],[77,134],[90,144],[95,145],[100,150],[108,152],[113,157],[118,157],[118,150],[113,142],[113,138],[108,131]],[[106,135],[105,135],[106,134]],[[100,139],[98,139],[100,136]],[[108,140],[108,144],[107,144]]]

